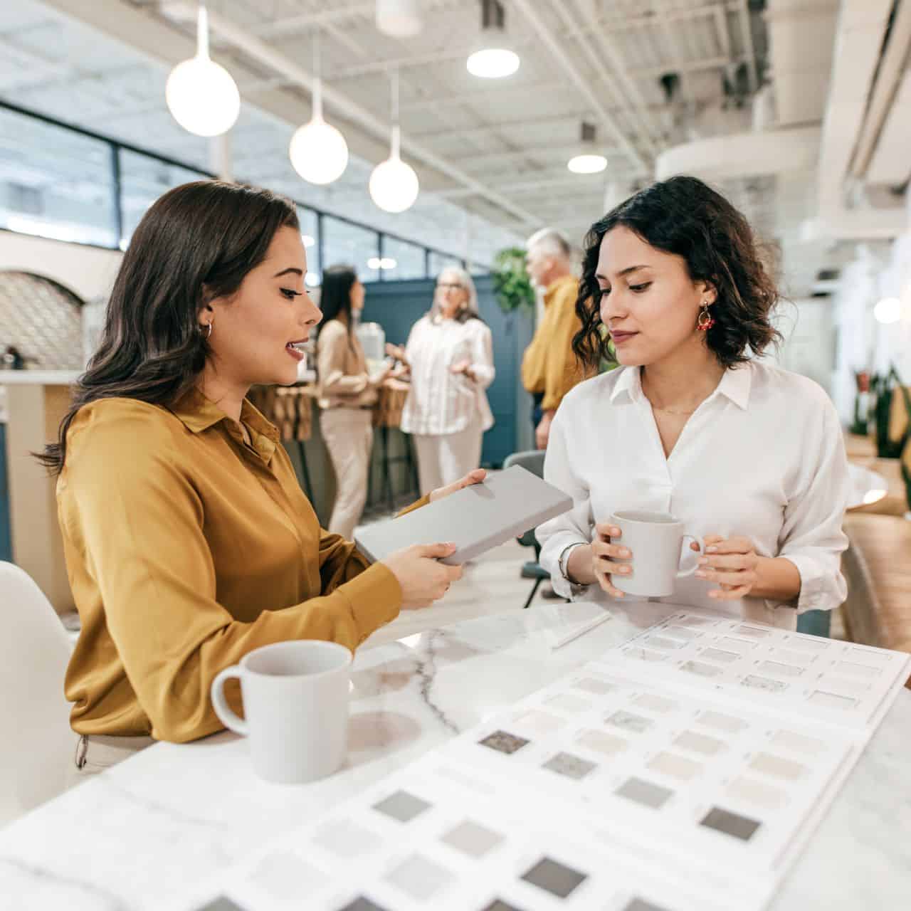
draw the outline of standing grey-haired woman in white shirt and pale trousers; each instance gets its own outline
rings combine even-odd
[[[481,439],[494,425],[486,388],[496,372],[471,276],[464,269],[440,272],[430,312],[415,322],[404,351],[388,351],[411,369],[402,430],[415,440],[421,490],[478,467]]]

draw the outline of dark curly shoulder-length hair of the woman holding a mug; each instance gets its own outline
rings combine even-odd
[[[711,283],[717,298],[711,307],[715,322],[706,333],[706,343],[722,367],[743,363],[749,360],[748,351],[761,354],[781,339],[770,319],[778,290],[749,223],[700,179],[673,177],[621,202],[596,221],[585,237],[576,302],[582,328],[572,343],[585,366],[616,363],[609,335],[601,325],[601,292],[595,272],[604,235],[619,225],[656,250],[681,256],[692,281]]]

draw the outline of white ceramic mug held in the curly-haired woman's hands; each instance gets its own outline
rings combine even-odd
[[[680,519],[670,513],[624,509],[610,517],[610,524],[620,529],[619,540],[611,543],[632,552],[632,558],[617,561],[630,566],[630,574],[610,577],[614,588],[628,595],[667,598],[674,593],[676,579],[691,576],[699,568],[695,555],[691,568],[680,568],[683,542],[695,541],[700,554],[705,553],[701,538],[686,534]]]

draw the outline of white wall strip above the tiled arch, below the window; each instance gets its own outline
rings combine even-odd
[[[0,231],[0,270],[44,275],[86,302],[107,301],[122,257],[117,250]]]

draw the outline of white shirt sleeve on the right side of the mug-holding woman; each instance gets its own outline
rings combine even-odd
[[[784,508],[779,557],[789,559],[801,578],[797,611],[832,610],[847,594],[841,555],[848,546],[844,511],[850,494],[844,438],[834,406],[821,403],[821,420],[804,451],[819,455],[807,467],[800,488]]]

